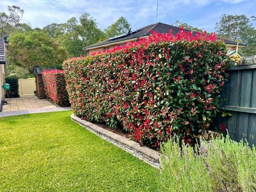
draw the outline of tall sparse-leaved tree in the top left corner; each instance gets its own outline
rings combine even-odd
[[[24,10],[19,6],[12,5],[8,6],[9,14],[5,12],[0,13],[0,37],[12,34],[19,27]]]

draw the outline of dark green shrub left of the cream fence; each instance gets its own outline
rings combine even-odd
[[[6,91],[5,97],[6,98],[19,97],[17,75],[10,75],[8,77],[5,77],[5,83],[10,84],[10,89],[9,89],[9,91]]]

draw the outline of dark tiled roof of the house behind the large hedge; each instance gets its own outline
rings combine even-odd
[[[99,42],[99,43],[88,45],[85,49],[90,49],[90,48],[94,48],[94,47],[108,45],[110,43],[116,43],[117,44],[118,42],[128,41],[129,39],[148,36],[148,35],[151,34],[151,31],[156,31],[156,32],[159,32],[159,33],[162,33],[162,34],[167,34],[170,30],[172,30],[172,34],[175,35],[180,31],[180,28],[175,27],[173,25],[160,23],[160,22],[155,23],[155,24],[150,24],[146,27],[143,27],[141,29],[137,29],[137,30],[133,31],[130,34],[120,35],[120,36],[117,36],[117,37],[107,39],[106,41],[102,41],[102,42]],[[190,31],[190,30],[186,30],[186,29],[184,29],[184,30],[185,31]],[[193,31],[193,35],[195,36],[196,32]],[[224,42],[226,44],[237,45],[237,42],[229,41],[227,39],[224,39]],[[242,43],[239,43],[239,45],[245,46],[245,44],[242,44]]]

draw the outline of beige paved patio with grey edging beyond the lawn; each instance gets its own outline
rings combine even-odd
[[[70,107],[57,107],[48,100],[40,100],[36,96],[21,96],[19,98],[6,98],[8,104],[3,105],[0,117],[32,114],[38,112],[52,112],[71,110]]]

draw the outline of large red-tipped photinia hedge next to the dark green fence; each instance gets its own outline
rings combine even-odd
[[[227,66],[224,42],[183,29],[63,63],[76,116],[155,148],[174,134],[190,143],[209,128]]]

